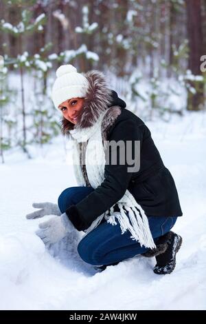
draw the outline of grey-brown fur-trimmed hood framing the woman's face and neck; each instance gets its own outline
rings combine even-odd
[[[106,77],[98,70],[91,70],[84,77],[89,81],[89,88],[84,97],[84,106],[78,114],[76,125],[67,121],[65,117],[61,120],[62,134],[69,136],[69,131],[76,128],[91,127],[96,121],[100,113],[108,109],[108,113],[103,120],[104,130],[110,128],[117,116],[121,113],[121,109],[125,108],[126,103],[117,96],[117,92],[111,90],[106,85]]]

